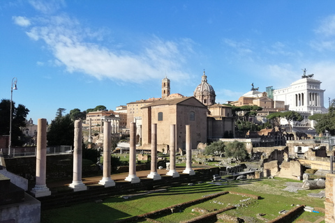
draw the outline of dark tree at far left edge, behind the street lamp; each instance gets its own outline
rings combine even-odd
[[[12,146],[21,146],[23,141],[23,133],[21,128],[26,126],[26,118],[29,114],[29,109],[24,105],[15,107],[15,102],[12,102]],[[10,125],[10,100],[2,99],[0,102],[0,135],[9,134]]]

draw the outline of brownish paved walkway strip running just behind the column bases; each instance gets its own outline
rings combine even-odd
[[[197,167],[197,168],[193,168],[193,170],[197,170],[197,169],[204,169],[206,167]],[[184,171],[185,167],[177,167],[176,171],[179,174],[182,174],[182,172]],[[164,176],[168,173],[168,171],[166,169],[158,169],[157,173],[160,174],[161,176]],[[138,176],[139,178],[147,178],[148,174],[150,174],[150,170],[144,170],[144,171],[136,171],[136,176]],[[126,180],[124,180],[127,176],[129,175],[128,172],[125,173],[121,173],[121,174],[112,174],[110,177],[112,178],[112,180],[114,180],[115,182],[117,181],[124,181],[126,182]],[[103,178],[103,176],[91,176],[91,177],[84,177],[82,178],[82,183],[84,183],[85,185],[94,185],[94,184],[98,184],[98,182]],[[64,186],[68,186],[70,183],[72,183],[72,179],[66,179],[66,180],[58,180],[58,181],[54,181],[54,182],[47,182],[47,187],[49,188],[55,188],[55,187],[64,187]]]

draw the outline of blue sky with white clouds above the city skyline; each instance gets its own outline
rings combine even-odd
[[[301,78],[335,98],[335,1],[0,1],[0,98],[27,118],[191,96],[203,70],[216,102],[251,83],[265,91]]]

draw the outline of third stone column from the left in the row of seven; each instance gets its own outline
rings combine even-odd
[[[99,181],[99,184],[113,187],[115,182],[110,178],[111,125],[108,121],[104,121],[103,124],[103,179]]]

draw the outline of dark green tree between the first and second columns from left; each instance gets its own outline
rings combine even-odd
[[[70,114],[57,116],[52,120],[47,132],[47,144],[49,146],[73,146],[74,121]]]

